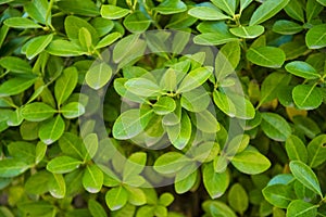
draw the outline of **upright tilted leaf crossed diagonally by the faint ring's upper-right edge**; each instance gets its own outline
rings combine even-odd
[[[241,49],[239,41],[231,41],[223,46],[215,59],[215,76],[217,81],[233,74],[239,64]]]

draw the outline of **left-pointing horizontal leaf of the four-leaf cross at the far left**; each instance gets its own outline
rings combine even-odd
[[[42,122],[52,117],[57,111],[43,102],[34,102],[22,108],[22,116],[29,122]]]

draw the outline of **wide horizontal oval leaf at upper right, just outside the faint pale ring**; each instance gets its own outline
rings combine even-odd
[[[280,68],[286,60],[284,51],[274,47],[250,48],[246,56],[253,64],[272,68]]]

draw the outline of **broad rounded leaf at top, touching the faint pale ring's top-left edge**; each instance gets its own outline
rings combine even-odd
[[[143,33],[151,25],[152,21],[149,20],[142,12],[136,11],[126,16],[124,26],[130,33]]]

